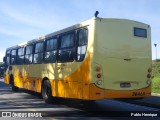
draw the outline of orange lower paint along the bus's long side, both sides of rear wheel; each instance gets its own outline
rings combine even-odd
[[[26,74],[26,71],[24,72],[23,70],[24,67],[13,67],[15,86],[41,92],[41,82],[43,78],[30,77],[29,74]],[[53,91],[52,95],[65,98],[89,99],[89,73],[90,55],[88,55],[83,64],[70,76],[60,80],[50,79]]]

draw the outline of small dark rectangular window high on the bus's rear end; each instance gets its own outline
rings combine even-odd
[[[147,38],[147,30],[134,27],[134,36]]]

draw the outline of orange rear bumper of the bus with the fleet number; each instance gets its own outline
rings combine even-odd
[[[90,99],[99,100],[106,98],[145,98],[151,96],[151,85],[138,90],[107,90],[90,85]]]

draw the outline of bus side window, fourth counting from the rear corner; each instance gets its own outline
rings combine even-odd
[[[33,63],[42,63],[43,62],[43,42],[35,44]]]

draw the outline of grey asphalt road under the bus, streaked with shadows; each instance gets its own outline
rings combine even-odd
[[[157,106],[160,98],[157,97]],[[132,100],[131,100],[132,101]],[[142,101],[143,102],[143,101]],[[154,103],[155,103],[154,102]],[[3,113],[2,113],[3,112]],[[40,94],[20,89],[12,92],[11,86],[0,79],[0,120],[53,120],[53,119],[159,119],[160,108],[138,102],[99,100],[83,103],[77,100],[56,99],[45,103]],[[6,117],[12,116],[12,118]],[[157,117],[158,116],[158,117]]]

